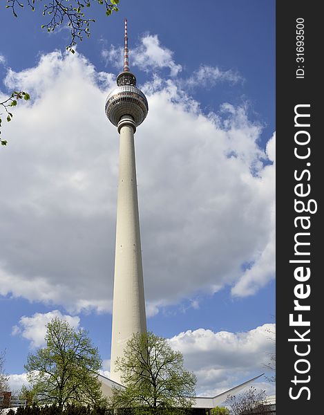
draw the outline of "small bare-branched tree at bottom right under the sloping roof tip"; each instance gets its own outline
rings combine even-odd
[[[263,415],[267,414],[265,405],[265,391],[251,386],[238,396],[229,395],[225,400],[230,415]]]

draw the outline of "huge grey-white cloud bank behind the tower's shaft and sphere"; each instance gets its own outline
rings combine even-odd
[[[171,68],[166,56],[155,61]],[[104,102],[113,76],[54,52],[9,71],[6,84],[32,101],[3,124],[0,294],[111,311],[118,136]],[[261,127],[245,107],[204,116],[173,80],[155,76],[143,89],[149,116],[135,145],[148,315],[226,284],[255,293],[274,277],[274,165],[262,163],[272,142],[267,154],[258,147]]]

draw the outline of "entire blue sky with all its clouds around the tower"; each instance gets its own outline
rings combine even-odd
[[[53,315],[89,331],[108,374],[118,138],[104,100],[125,17],[149,100],[135,135],[149,329],[184,353],[200,394],[262,373],[275,314],[274,1],[122,0],[108,18],[94,6],[75,55],[68,30],[48,34],[40,13],[15,19],[3,6],[1,96],[32,96],[0,151],[0,350],[12,388]]]

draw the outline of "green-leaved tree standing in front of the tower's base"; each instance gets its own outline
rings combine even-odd
[[[196,376],[183,368],[183,356],[153,333],[134,334],[124,357],[117,358],[124,389],[115,387],[110,406],[132,408],[135,414],[175,413],[189,409]]]

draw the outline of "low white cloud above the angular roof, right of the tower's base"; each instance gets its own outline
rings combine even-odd
[[[265,371],[263,365],[269,361],[269,353],[274,353],[269,330],[275,331],[275,324],[242,333],[189,330],[171,338],[170,344],[182,352],[184,366],[197,375],[198,395],[215,396]],[[262,386],[254,385],[262,388],[265,378],[260,380]],[[268,394],[274,392],[271,386]]]

